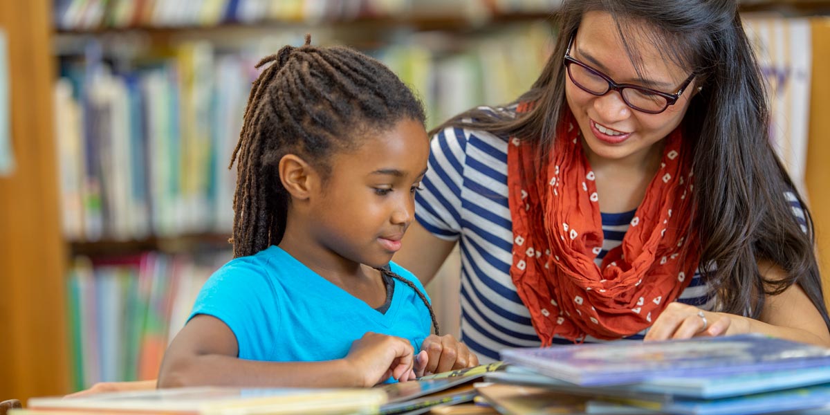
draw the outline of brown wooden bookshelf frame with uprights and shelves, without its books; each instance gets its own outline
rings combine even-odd
[[[311,31],[316,44],[341,43],[372,51],[392,62],[393,69],[415,89],[427,91],[431,88],[426,85],[432,82],[426,76],[428,72],[466,73],[464,71],[469,69],[470,60],[480,59],[475,53],[481,50],[482,40],[496,38],[495,44],[499,46],[494,49],[501,54],[500,59],[509,59],[510,50],[515,52],[519,49],[515,47],[518,42],[510,41],[515,40],[511,36],[533,42],[534,46],[527,49],[538,49],[539,56],[533,57],[535,61],[516,65],[526,67],[528,72],[513,76],[526,80],[526,85],[504,83],[484,90],[480,86],[461,84],[461,87],[477,91],[477,95],[471,95],[466,100],[425,96],[430,107],[429,123],[436,125],[459,110],[481,103],[504,102],[525,90],[535,79],[533,72],[537,71],[539,62],[544,61],[545,47],[549,46],[546,41],[551,29],[544,22],[549,16],[545,10],[558,3],[553,0],[527,2],[535,4],[535,7],[517,11],[498,8],[498,5],[510,2],[459,1],[460,6],[450,7],[449,14],[436,14],[424,11],[436,4],[446,9],[443,4],[446,2],[427,0],[417,3],[422,7],[420,10],[388,9],[305,20],[272,17],[249,22],[215,20],[207,24],[178,22],[159,26],[139,21],[126,25],[90,23],[81,27],[55,27],[53,7],[59,9],[72,2],[0,2],[0,26],[13,40],[9,56],[14,79],[12,135],[18,162],[17,172],[12,177],[0,178],[0,200],[3,201],[0,203],[0,229],[4,236],[0,241],[0,261],[9,264],[6,270],[0,272],[0,283],[13,294],[10,300],[0,305],[0,321],[7,322],[8,338],[11,339],[0,342],[0,363],[10,368],[7,376],[0,380],[0,392],[9,396],[0,398],[25,399],[66,393],[76,388],[77,385],[71,384],[70,379],[73,370],[77,369],[73,369],[71,356],[64,353],[72,349],[69,334],[71,322],[66,312],[69,307],[67,270],[72,269],[71,258],[135,256],[144,251],[198,256],[205,252],[212,255],[222,247],[229,247],[227,222],[212,223],[209,227],[174,229],[172,232],[128,232],[120,237],[65,238],[66,209],[60,207],[61,183],[57,180],[61,162],[55,161],[51,155],[58,152],[52,102],[60,62],[66,64],[71,56],[85,53],[101,53],[104,56],[115,53],[116,59],[108,63],[117,64],[119,59],[143,61],[145,57],[153,56],[156,60],[154,64],[157,64],[176,59],[177,53],[178,56],[191,53],[190,56],[198,57],[201,53],[198,41],[207,40],[215,45],[211,53],[231,51],[233,55],[237,51],[245,51],[244,55],[237,54],[241,56],[237,64],[252,67],[252,59],[276,51],[286,43],[299,44],[305,32]],[[90,0],[88,3],[105,2]],[[112,5],[120,3],[122,1],[110,2]],[[478,3],[495,4],[496,8],[482,8]],[[828,1],[745,2],[742,7],[752,12],[784,10],[790,15],[798,15],[826,12],[828,4]],[[816,18],[813,28],[813,51],[830,50],[830,23]],[[499,41],[499,37],[506,40]],[[251,46],[251,39],[260,42]],[[86,47],[90,41],[98,42],[100,50],[90,52]],[[185,49],[176,51],[170,47],[159,48],[159,45],[185,45]],[[28,51],[53,51],[54,55]],[[419,66],[415,60],[422,56],[441,66]],[[56,61],[55,57],[61,61]],[[813,74],[827,73],[828,70],[830,56],[816,53]],[[479,76],[498,77],[497,74]],[[452,83],[452,80],[449,78],[445,85]],[[247,91],[243,92],[247,94]],[[830,96],[830,81],[815,76],[811,96],[811,113],[826,114],[830,110],[830,101],[824,97]],[[245,97],[242,99],[244,103]],[[241,106],[238,110],[241,118]],[[58,117],[60,119],[60,115]],[[822,137],[823,131],[830,128],[826,117],[813,116],[810,122],[812,137]],[[224,129],[234,135],[232,125],[225,125]],[[61,129],[57,134],[61,134]],[[235,142],[235,135],[233,139]],[[814,139],[808,145],[807,188],[818,227],[818,248],[822,252],[830,252],[830,237],[823,237],[830,235],[830,195],[823,191],[823,183],[828,183],[830,178],[830,168],[823,163],[824,156],[830,155],[830,144]],[[221,165],[226,165],[227,159],[227,156],[216,157],[216,160],[222,161]],[[227,181],[224,185],[228,183],[231,182]],[[229,219],[228,209],[229,201],[225,206],[216,207],[217,212],[226,212],[225,216]],[[215,217],[222,217],[222,213],[217,213]],[[822,257],[823,269],[830,272],[828,261],[830,256]],[[452,268],[458,266],[457,261],[450,262],[444,271],[447,275],[452,275]],[[437,291],[457,292],[457,288],[452,288],[457,287],[457,281],[446,278],[437,281],[441,281],[443,286]],[[452,299],[442,300],[452,303]],[[452,310],[447,312],[452,313]],[[452,318],[457,320],[457,315]]]

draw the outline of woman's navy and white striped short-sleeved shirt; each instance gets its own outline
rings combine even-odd
[[[482,362],[499,359],[501,349],[538,347],[530,311],[510,278],[513,230],[507,202],[507,140],[494,134],[449,127],[432,138],[415,217],[427,231],[461,248],[461,339]],[[788,194],[803,220],[798,199]],[[793,201],[795,201],[793,203]],[[623,242],[636,211],[603,213],[603,257]],[[715,304],[710,287],[695,272],[678,299],[703,310]],[[646,330],[627,337],[642,339]],[[586,342],[601,341],[588,336]],[[571,344],[554,338],[554,344]]]

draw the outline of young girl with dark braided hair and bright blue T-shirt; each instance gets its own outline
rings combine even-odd
[[[430,335],[423,286],[390,262],[427,170],[421,104],[380,62],[310,37],[269,63],[232,158],[235,259],[200,292],[159,387],[368,387],[478,364]]]

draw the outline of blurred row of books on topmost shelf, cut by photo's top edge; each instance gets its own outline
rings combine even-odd
[[[562,0],[57,0],[56,27],[206,27],[227,23],[344,22],[366,18],[459,17],[545,13]]]

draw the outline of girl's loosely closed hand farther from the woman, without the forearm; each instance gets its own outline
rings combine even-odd
[[[357,374],[359,386],[371,387],[390,376],[399,382],[413,380],[413,354],[413,346],[407,339],[367,332],[354,340],[344,361]]]

